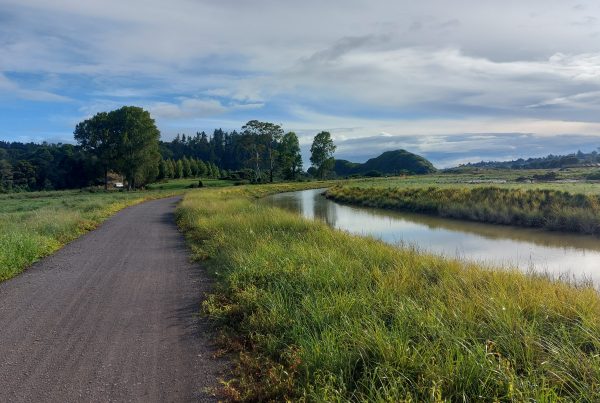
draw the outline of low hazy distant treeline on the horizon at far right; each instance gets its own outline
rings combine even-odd
[[[473,168],[500,168],[500,169],[551,169],[568,168],[575,166],[592,166],[600,164],[600,154],[597,151],[591,153],[577,153],[567,155],[548,155],[541,158],[519,158],[514,161],[481,161],[460,165],[460,167]]]

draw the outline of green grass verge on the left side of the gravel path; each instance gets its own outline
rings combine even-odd
[[[0,195],[0,281],[16,276],[127,206],[177,193],[182,191]]]

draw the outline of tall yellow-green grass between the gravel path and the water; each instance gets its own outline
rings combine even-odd
[[[177,211],[217,280],[205,309],[239,351],[230,397],[600,399],[595,290],[396,249],[255,200],[278,190],[194,192]]]

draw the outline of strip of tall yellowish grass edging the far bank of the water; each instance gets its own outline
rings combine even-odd
[[[338,186],[327,197],[349,204],[493,224],[600,234],[600,195],[496,186]]]

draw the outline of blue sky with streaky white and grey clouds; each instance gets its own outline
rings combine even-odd
[[[362,162],[600,146],[600,2],[0,0],[0,140],[123,105],[177,133],[251,119]]]

